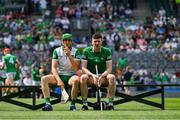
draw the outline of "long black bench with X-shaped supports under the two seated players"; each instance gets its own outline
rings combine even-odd
[[[149,106],[153,106],[153,107],[157,107],[160,108],[162,110],[165,109],[165,95],[164,95],[164,88],[165,87],[173,87],[173,86],[177,86],[179,87],[180,84],[161,84],[161,85],[142,85],[142,84],[138,84],[138,85],[117,85],[117,87],[155,87],[152,90],[149,91],[145,91],[142,92],[140,94],[136,94],[136,95],[128,95],[125,94],[123,92],[116,92],[116,97],[120,97],[122,99],[119,100],[115,100],[113,102],[114,105],[119,105],[119,104],[123,104],[123,103],[127,103],[130,101],[136,101],[139,103],[143,103]],[[2,88],[18,88],[18,92],[17,93],[11,93],[9,95],[6,96],[0,96],[0,102],[4,101],[10,104],[14,104],[17,106],[21,106],[24,108],[28,108],[31,110],[37,110],[43,107],[44,103],[40,103],[40,104],[36,104],[36,94],[37,93],[42,93],[41,91],[41,87],[40,86],[0,86],[0,89]],[[106,88],[100,88],[101,92],[107,93],[107,89]],[[90,92],[96,92],[96,89],[91,89]],[[23,103],[20,102],[19,100],[13,100],[13,98],[16,97],[21,97],[22,95],[26,95],[26,94],[32,94],[31,98],[32,98],[32,104],[27,104],[27,103]],[[161,102],[160,103],[156,103],[153,101],[149,101],[146,99],[143,99],[145,97],[149,97],[152,95],[156,95],[156,94],[160,94],[160,99]],[[50,95],[52,97],[54,97],[55,99],[51,100],[51,104],[57,104],[61,101],[61,95],[55,92],[51,92]],[[79,104],[82,104],[82,100],[77,99],[76,101]],[[90,107],[95,107],[95,104],[97,102],[88,102],[88,106]]]

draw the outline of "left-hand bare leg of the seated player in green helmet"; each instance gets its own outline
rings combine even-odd
[[[44,95],[44,100],[46,105],[42,108],[44,111],[51,111],[51,103],[50,103],[50,88],[49,84],[56,84],[56,79],[55,77],[50,74],[50,75],[45,75],[41,78],[41,88],[42,92]]]

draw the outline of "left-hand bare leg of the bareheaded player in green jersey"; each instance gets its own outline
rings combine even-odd
[[[93,78],[88,76],[87,74],[83,74],[80,78],[80,91],[83,101],[83,106],[81,108],[82,110],[88,110],[87,96],[88,96],[88,85],[90,84],[94,84]]]

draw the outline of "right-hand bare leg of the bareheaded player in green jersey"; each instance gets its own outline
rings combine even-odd
[[[102,86],[108,86],[108,109],[113,110],[113,101],[115,97],[116,91],[116,79],[113,74],[108,74],[106,78],[102,79],[101,81]]]

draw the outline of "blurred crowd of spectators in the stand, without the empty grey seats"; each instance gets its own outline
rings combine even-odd
[[[135,5],[125,0],[117,3],[114,5],[110,0],[97,0],[89,5],[88,2],[79,3],[72,0],[70,3],[64,0],[59,4],[52,3],[53,8],[49,8],[47,0],[32,0],[33,10],[40,12],[38,16],[26,15],[24,8],[18,12],[8,11],[1,14],[0,56],[3,56],[2,50],[5,47],[10,47],[21,62],[20,79],[33,81],[33,72],[40,74],[42,66],[46,65],[43,68],[45,73],[50,72],[52,50],[61,45],[62,33],[71,32],[71,19],[88,17],[92,33],[101,32],[103,44],[113,51],[114,73],[117,79],[122,80],[123,78],[118,78],[118,75],[124,76],[130,70],[130,78],[134,79],[131,79],[132,81],[139,80],[144,84],[164,81],[179,83],[179,64],[171,73],[168,73],[166,67],[156,67],[154,71],[157,72],[152,72],[143,66],[133,68],[128,62],[122,73],[116,71],[121,54],[129,59],[126,54],[151,52],[153,55],[153,52],[160,51],[165,59],[180,61],[180,25],[177,18],[167,16],[162,7],[155,15],[147,16],[143,23],[138,23],[133,17]],[[74,39],[74,43],[89,45],[90,38],[84,35],[83,38]]]

